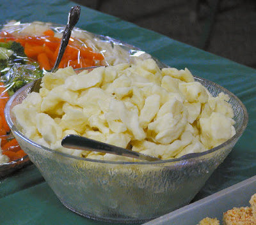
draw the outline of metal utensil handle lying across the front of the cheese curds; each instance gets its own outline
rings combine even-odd
[[[92,150],[95,152],[103,152],[115,154],[118,156],[132,157],[143,161],[161,161],[161,159],[142,154],[140,152],[134,152],[132,150],[123,149],[115,145],[109,145],[107,143],[98,142],[90,138],[69,134],[62,139],[61,145],[68,149],[80,149],[80,150]]]

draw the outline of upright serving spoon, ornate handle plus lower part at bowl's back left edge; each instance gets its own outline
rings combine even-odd
[[[63,57],[63,54],[67,48],[68,41],[72,33],[72,29],[74,28],[74,26],[77,24],[79,20],[80,12],[81,12],[80,6],[73,6],[69,11],[68,22],[61,38],[61,44],[60,44],[60,49],[58,52],[57,59],[51,71],[47,71],[47,72],[54,73],[58,69],[58,66]],[[39,92],[41,82],[42,82],[42,78],[36,79],[31,86],[30,92]]]

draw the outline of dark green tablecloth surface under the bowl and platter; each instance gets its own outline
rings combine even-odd
[[[0,3],[0,24],[8,20],[67,23],[67,0],[12,0]],[[171,23],[170,23],[171,24]],[[256,70],[191,47],[166,36],[81,7],[77,27],[111,36],[141,48],[168,66],[219,83],[243,101],[249,114],[246,131],[193,201],[256,174]],[[182,27],[180,27],[182,29]],[[256,192],[256,189],[255,189]],[[0,179],[0,224],[108,224],[86,219],[65,208],[33,164]]]

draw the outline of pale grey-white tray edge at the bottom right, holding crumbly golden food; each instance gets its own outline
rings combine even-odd
[[[205,217],[222,221],[223,212],[233,207],[249,206],[255,193],[256,175],[143,225],[196,225]]]

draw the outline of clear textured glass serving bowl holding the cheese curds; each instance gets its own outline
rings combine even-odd
[[[61,203],[84,217],[112,222],[142,222],[183,207],[191,201],[243,133],[248,115],[243,103],[220,85],[195,78],[213,96],[230,96],[236,134],[202,153],[156,162],[113,162],[70,156],[47,149],[20,133],[13,106],[26,98],[28,84],[8,101],[5,116],[21,148],[40,170]]]

